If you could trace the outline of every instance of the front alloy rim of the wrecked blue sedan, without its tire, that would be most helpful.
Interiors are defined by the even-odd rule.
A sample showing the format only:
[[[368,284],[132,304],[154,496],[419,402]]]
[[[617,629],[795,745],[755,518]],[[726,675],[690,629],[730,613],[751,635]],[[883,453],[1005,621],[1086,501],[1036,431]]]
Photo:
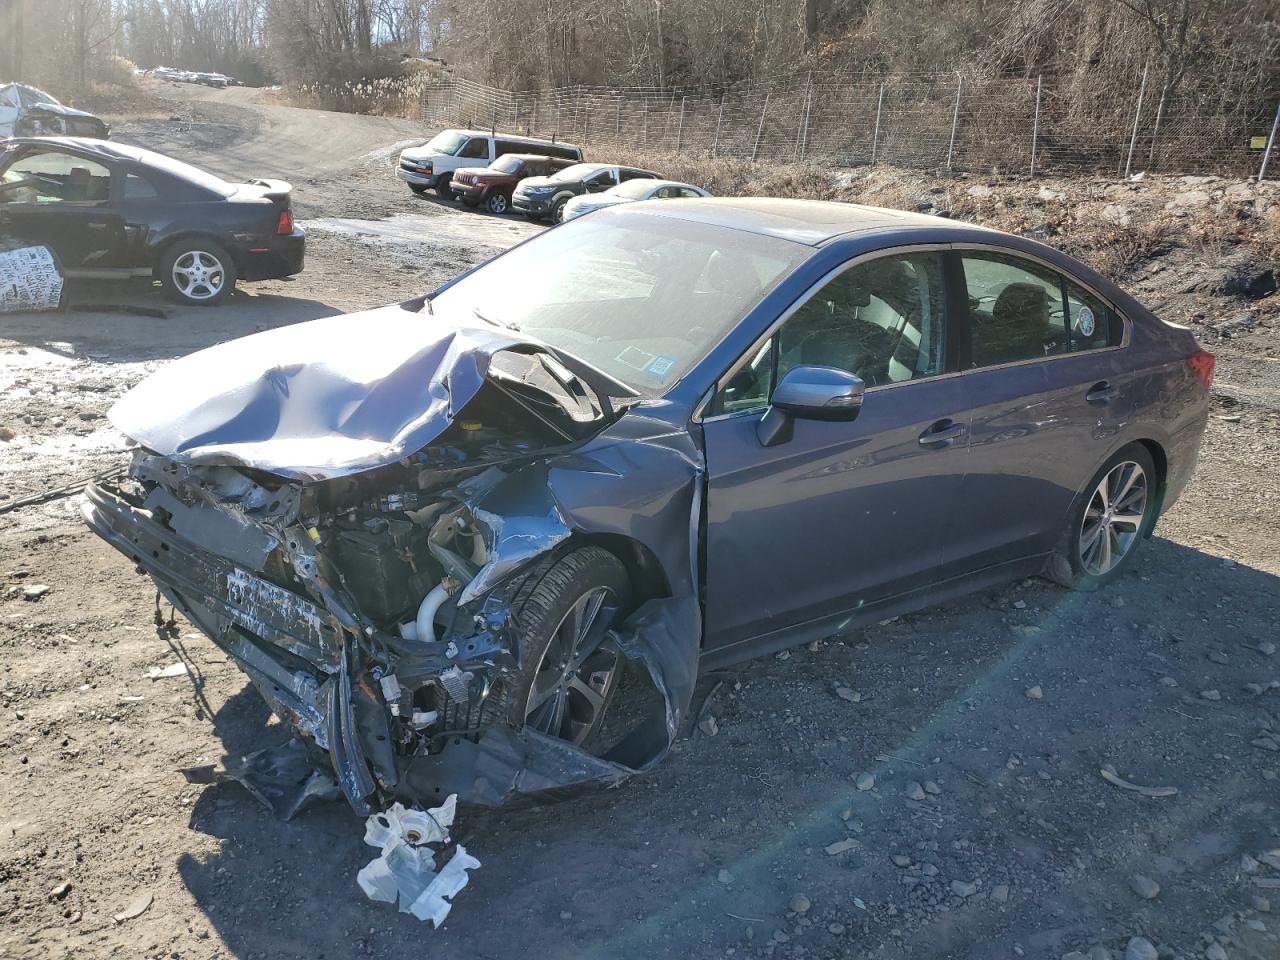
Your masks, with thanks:
[[[617,681],[620,653],[605,640],[613,590],[599,586],[570,607],[534,673],[525,723],[581,744],[599,726]]]

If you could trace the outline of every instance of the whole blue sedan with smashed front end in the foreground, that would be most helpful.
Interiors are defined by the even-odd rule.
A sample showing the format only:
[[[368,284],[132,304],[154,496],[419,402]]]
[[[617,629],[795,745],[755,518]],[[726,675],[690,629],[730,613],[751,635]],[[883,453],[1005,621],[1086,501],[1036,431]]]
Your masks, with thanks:
[[[1115,579],[1212,372],[1029,239],[635,204],[163,367],[84,516],[296,728],[239,768],[285,814],[317,777],[362,814],[549,799],[657,763],[708,667]]]

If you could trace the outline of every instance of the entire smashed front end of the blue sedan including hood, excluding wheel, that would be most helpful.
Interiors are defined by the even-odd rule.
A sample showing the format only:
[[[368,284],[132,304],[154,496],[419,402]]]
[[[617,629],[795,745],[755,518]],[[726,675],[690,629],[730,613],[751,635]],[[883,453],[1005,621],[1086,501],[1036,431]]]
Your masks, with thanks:
[[[90,526],[300,736],[228,776],[291,815],[324,794],[326,763],[369,814],[547,799],[659,760],[701,632],[687,430],[506,332],[401,307],[337,320],[165,367],[113,411],[140,444],[128,475],[88,489]],[[376,349],[352,351],[352,329]],[[527,672],[517,595],[582,544],[636,581],[634,609],[590,643],[658,694],[599,755],[512,707]]]

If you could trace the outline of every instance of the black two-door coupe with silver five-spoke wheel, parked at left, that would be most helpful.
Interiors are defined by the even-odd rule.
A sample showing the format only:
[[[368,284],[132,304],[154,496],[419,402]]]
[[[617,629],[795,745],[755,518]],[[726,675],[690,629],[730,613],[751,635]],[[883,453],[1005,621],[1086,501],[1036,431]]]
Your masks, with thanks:
[[[152,278],[180,303],[220,303],[237,280],[302,270],[291,192],[113,141],[0,142],[0,236],[47,246],[69,279]]]

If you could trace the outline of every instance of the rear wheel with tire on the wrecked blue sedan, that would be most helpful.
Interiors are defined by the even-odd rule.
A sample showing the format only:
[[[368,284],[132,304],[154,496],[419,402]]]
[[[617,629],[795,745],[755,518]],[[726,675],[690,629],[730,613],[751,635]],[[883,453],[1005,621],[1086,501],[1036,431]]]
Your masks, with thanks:
[[[1155,461],[1140,443],[1129,444],[1076,497],[1050,577],[1083,591],[1111,582],[1133,562],[1158,508]]]

